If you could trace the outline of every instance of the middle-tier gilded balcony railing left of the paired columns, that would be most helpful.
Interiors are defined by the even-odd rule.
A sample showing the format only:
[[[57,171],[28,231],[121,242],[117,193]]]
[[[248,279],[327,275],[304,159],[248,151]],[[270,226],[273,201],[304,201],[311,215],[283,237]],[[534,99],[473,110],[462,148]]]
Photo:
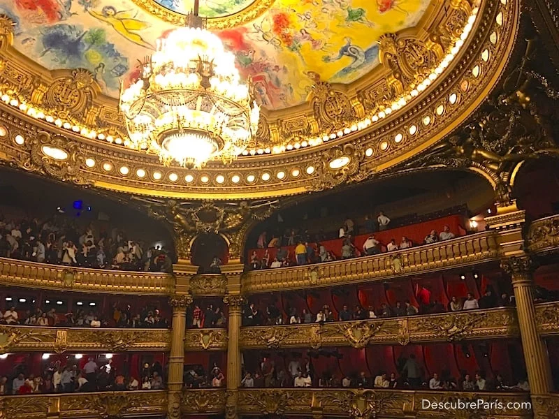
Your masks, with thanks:
[[[169,351],[170,330],[0,325],[0,352]]]

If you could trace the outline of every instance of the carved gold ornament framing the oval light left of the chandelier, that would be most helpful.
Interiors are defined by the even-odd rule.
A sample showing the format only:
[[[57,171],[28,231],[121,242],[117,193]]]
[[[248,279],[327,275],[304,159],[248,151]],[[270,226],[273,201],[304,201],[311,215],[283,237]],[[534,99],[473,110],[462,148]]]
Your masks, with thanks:
[[[60,149],[66,153],[66,159],[53,159],[43,152],[44,147]],[[82,168],[85,165],[85,156],[77,142],[69,142],[60,135],[52,136],[41,131],[36,138],[29,140],[29,154],[21,154],[10,164],[29,172],[50,175],[64,182],[73,182],[78,185],[89,185],[91,182],[82,177]]]

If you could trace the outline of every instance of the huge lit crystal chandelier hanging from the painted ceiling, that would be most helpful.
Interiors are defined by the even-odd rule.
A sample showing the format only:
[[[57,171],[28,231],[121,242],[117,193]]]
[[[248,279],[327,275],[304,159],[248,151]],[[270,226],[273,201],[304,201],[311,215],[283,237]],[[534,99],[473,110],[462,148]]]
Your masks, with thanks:
[[[198,16],[157,40],[140,78],[120,95],[133,147],[154,152],[165,165],[200,168],[212,159],[230,163],[258,127],[260,109],[235,57]]]

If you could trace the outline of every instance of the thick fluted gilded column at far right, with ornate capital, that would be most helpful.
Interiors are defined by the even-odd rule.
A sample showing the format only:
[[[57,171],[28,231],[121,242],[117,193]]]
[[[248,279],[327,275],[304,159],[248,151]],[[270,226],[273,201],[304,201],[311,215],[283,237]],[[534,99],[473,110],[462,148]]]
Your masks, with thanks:
[[[526,256],[513,256],[504,259],[501,267],[511,276],[514,288],[530,392],[532,395],[546,395],[553,388],[553,381],[546,343],[537,332],[532,260]]]

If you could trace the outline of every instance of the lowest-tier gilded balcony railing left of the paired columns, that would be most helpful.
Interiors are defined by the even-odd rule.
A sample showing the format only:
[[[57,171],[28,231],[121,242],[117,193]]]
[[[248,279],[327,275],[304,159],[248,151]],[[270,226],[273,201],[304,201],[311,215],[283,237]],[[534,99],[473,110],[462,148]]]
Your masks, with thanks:
[[[83,392],[67,395],[3,396],[6,419],[157,418],[167,411],[167,392]]]

